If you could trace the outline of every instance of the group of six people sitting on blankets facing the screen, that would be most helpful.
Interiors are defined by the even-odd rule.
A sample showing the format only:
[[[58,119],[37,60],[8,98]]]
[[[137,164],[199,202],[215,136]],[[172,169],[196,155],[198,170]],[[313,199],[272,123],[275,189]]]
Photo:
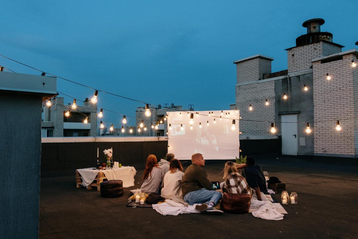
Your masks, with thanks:
[[[202,168],[205,160],[202,154],[192,155],[192,164],[183,173],[183,166],[174,154],[166,154],[166,160],[159,164],[151,154],[147,158],[144,170],[144,183],[141,192],[158,193],[165,199],[184,201],[189,205],[198,204],[195,209],[204,214],[221,215],[223,211],[215,209],[222,198],[222,193],[212,190],[212,183]],[[245,177],[238,173],[245,171]],[[266,180],[260,166],[255,164],[252,157],[247,157],[246,164],[226,162],[224,167],[224,182],[221,183],[223,193],[245,193],[257,200],[262,200],[267,192]]]

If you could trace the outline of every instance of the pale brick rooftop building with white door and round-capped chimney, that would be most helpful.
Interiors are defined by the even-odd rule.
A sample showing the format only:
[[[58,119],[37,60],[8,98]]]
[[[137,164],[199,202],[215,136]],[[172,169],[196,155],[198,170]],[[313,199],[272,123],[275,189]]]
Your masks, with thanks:
[[[282,154],[357,157],[358,66],[353,62],[358,64],[358,52],[342,52],[332,33],[320,31],[323,24],[320,18],[303,23],[307,34],[286,49],[287,70],[271,73],[274,59],[261,54],[234,61],[236,102],[230,109],[240,110],[241,140],[256,146],[259,141],[253,140],[261,140]]]

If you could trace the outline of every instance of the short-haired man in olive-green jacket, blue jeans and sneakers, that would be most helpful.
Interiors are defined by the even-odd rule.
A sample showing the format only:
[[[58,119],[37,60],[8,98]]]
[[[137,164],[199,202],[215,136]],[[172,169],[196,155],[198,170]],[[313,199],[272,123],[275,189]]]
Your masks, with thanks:
[[[222,194],[211,191],[212,183],[208,180],[208,175],[202,168],[205,160],[202,154],[192,155],[192,165],[185,170],[182,181],[182,193],[184,201],[190,205],[196,205],[195,209],[205,214],[222,215],[223,211],[217,210],[214,206],[220,201]]]

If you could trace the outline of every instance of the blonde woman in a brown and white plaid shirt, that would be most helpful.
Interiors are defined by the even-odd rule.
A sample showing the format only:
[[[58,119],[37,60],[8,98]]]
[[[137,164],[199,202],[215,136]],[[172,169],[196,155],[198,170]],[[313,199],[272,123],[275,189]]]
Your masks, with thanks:
[[[246,193],[252,196],[251,188],[247,185],[244,177],[237,173],[236,165],[233,162],[226,162],[224,167],[223,192]]]

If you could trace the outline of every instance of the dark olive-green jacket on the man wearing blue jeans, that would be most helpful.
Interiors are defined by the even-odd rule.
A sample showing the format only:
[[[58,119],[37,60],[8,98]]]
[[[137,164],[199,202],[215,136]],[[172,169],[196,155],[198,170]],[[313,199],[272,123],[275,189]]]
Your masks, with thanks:
[[[197,191],[202,188],[211,190],[211,182],[208,180],[208,174],[198,164],[193,163],[185,170],[182,180],[183,197],[189,192]]]

